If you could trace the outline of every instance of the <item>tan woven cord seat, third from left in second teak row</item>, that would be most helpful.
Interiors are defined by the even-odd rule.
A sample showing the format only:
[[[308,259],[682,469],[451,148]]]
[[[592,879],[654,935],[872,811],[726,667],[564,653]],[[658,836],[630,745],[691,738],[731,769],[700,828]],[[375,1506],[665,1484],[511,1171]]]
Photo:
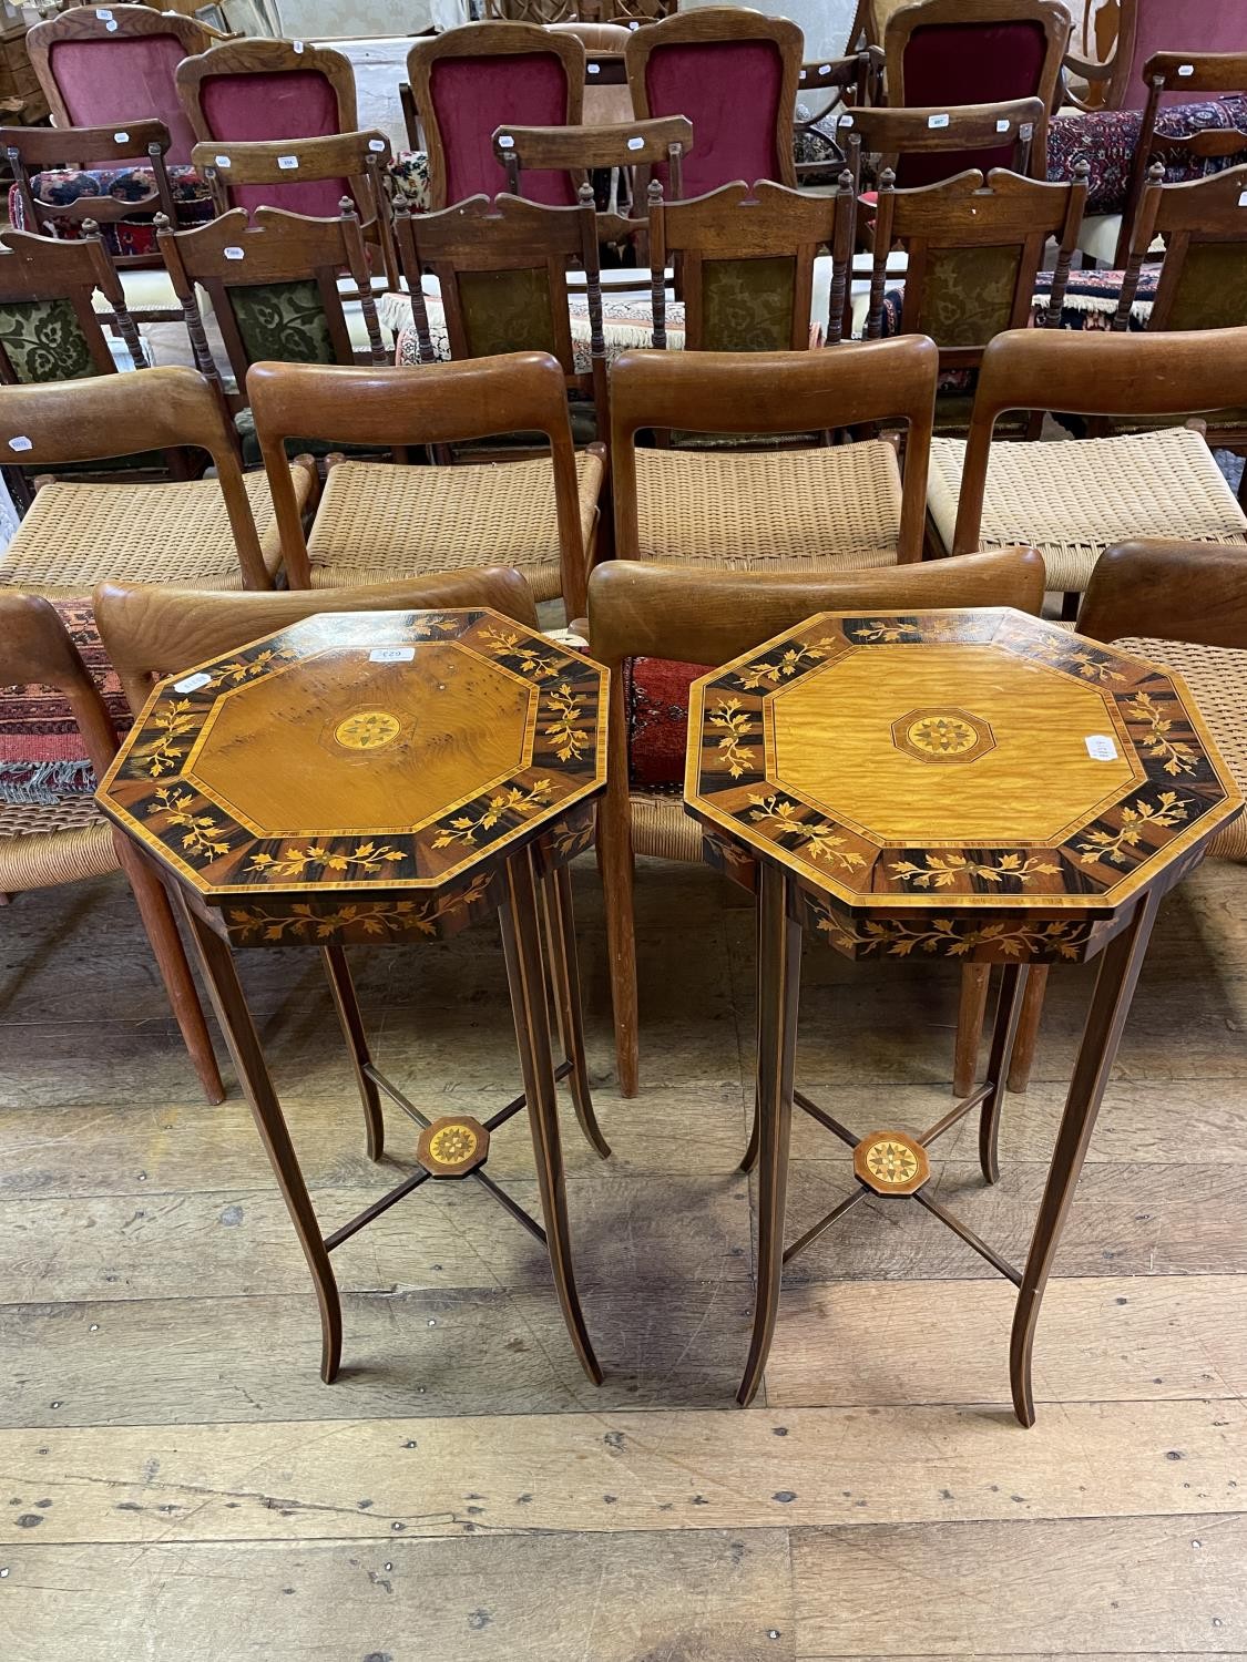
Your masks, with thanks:
[[[900,529],[901,472],[883,440],[637,450],[642,560],[738,572],[868,570],[896,563]]]

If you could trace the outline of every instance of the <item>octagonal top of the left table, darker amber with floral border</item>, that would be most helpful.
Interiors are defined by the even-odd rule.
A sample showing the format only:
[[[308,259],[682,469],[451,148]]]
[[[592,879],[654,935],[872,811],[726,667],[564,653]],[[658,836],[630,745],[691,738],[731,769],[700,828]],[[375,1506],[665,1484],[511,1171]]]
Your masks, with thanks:
[[[98,801],[208,906],[462,889],[602,791],[607,680],[489,610],[321,613],[161,681]]]

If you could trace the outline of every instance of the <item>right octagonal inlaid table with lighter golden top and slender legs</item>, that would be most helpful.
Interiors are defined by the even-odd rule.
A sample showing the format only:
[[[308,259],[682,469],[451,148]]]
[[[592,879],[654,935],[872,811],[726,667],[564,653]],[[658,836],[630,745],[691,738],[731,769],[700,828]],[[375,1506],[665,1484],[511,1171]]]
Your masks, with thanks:
[[[1034,1423],[1039,1305],[1156,909],[1242,809],[1179,676],[1013,610],[826,613],[693,683],[685,806],[758,889],[758,1388],[783,1263],[866,1195],[911,1197],[1018,1288],[1009,1371]],[[986,1084],[921,1135],[858,1135],[793,1090],[801,934],[846,957],[1004,966]],[[1099,974],[1024,1268],[928,1188],[929,1145],[1001,1095],[1029,964]],[[853,1147],[855,1190],[783,1248],[791,1109]]]

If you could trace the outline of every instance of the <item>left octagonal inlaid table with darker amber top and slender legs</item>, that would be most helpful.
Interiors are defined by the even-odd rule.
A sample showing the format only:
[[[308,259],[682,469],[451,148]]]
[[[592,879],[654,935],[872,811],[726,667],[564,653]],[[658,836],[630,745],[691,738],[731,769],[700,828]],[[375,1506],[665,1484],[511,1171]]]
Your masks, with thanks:
[[[589,1095],[567,874],[605,788],[605,670],[494,612],[319,615],[161,681],[100,786],[103,811],[185,906],[316,1285],[326,1381],[343,1348],[329,1253],[424,1182],[456,1178],[482,1183],[547,1246],[572,1343],[600,1379],[572,1271],[555,1080],[570,1079],[577,1119],[609,1155]],[[431,1120],[374,1065],[344,947],[439,941],[494,912],[524,1094],[484,1124]],[[412,1173],[331,1235],[233,959],[293,944],[324,956],[369,1155],[382,1153],[382,1095],[421,1125]],[[484,1170],[490,1137],[524,1107],[544,1227]]]

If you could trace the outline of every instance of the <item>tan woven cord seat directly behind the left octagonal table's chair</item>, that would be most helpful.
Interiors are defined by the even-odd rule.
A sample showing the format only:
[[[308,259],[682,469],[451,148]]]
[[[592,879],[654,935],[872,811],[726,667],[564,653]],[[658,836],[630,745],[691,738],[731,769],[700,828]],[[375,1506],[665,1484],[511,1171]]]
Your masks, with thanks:
[[[602,459],[575,457],[589,550]],[[313,588],[357,588],[399,575],[514,565],[534,600],[560,592],[554,472],[545,457],[464,467],[339,462],[308,535]]]

